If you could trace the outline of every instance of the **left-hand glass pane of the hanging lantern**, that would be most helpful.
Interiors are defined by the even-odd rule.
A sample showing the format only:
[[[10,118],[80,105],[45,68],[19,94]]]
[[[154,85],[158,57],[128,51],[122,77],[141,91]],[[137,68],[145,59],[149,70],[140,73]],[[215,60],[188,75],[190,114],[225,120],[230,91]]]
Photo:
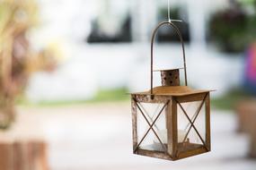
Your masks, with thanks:
[[[163,152],[163,146],[167,146],[166,107],[163,108],[162,103],[139,103],[138,106],[143,111],[142,114],[137,108],[137,142],[142,140],[139,149]]]

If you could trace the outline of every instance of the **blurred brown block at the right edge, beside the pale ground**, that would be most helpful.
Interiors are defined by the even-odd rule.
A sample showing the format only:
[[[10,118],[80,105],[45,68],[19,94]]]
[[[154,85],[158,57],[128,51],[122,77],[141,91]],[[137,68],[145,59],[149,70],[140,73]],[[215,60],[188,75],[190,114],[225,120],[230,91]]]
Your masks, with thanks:
[[[237,106],[238,132],[246,132],[250,135],[250,157],[256,157],[256,100],[248,100]]]

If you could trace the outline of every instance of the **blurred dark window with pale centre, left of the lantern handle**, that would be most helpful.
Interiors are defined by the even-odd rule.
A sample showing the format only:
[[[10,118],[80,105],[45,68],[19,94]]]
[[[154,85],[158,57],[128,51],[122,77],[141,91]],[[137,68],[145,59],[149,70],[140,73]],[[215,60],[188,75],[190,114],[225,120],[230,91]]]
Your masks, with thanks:
[[[127,0],[100,0],[99,13],[92,21],[89,43],[131,42],[131,17]]]

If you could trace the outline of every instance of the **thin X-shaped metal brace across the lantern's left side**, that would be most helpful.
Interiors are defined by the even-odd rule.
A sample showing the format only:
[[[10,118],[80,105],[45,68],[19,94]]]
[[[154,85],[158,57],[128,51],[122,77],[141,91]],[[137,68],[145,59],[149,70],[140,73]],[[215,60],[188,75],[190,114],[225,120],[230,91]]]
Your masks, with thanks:
[[[156,136],[157,140],[159,140],[159,142],[161,143],[161,146],[162,146],[164,152],[167,153],[166,147],[163,145],[162,140],[159,138],[159,136],[157,135],[157,133],[154,131],[153,126],[154,126],[154,123],[157,121],[157,119],[160,117],[160,115],[163,113],[163,109],[165,108],[165,106],[167,106],[167,105],[169,104],[170,100],[168,100],[168,101],[165,103],[165,105],[163,106],[163,108],[160,110],[159,114],[155,117],[153,123],[150,123],[150,122],[148,121],[148,119],[146,118],[146,115],[143,113],[141,107],[137,104],[137,99],[136,99],[136,98],[133,98],[133,100],[135,101],[135,103],[136,103],[136,105],[137,105],[137,107],[138,107],[138,109],[139,109],[141,115],[143,115],[143,117],[145,118],[146,123],[149,125],[149,129],[146,131],[146,133],[145,133],[145,135],[143,136],[143,138],[138,142],[136,149],[134,149],[134,152],[137,151],[137,149],[139,148],[140,144],[143,142],[143,140],[145,140],[146,135],[148,134],[148,132],[150,132],[150,130],[152,130],[152,131],[154,132],[154,135]]]

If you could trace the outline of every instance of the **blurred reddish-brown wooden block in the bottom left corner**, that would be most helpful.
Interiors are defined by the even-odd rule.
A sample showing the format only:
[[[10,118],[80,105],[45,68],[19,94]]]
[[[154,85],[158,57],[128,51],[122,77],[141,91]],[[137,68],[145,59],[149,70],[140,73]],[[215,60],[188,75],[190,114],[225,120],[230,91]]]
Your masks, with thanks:
[[[48,170],[42,141],[0,141],[0,170]]]

